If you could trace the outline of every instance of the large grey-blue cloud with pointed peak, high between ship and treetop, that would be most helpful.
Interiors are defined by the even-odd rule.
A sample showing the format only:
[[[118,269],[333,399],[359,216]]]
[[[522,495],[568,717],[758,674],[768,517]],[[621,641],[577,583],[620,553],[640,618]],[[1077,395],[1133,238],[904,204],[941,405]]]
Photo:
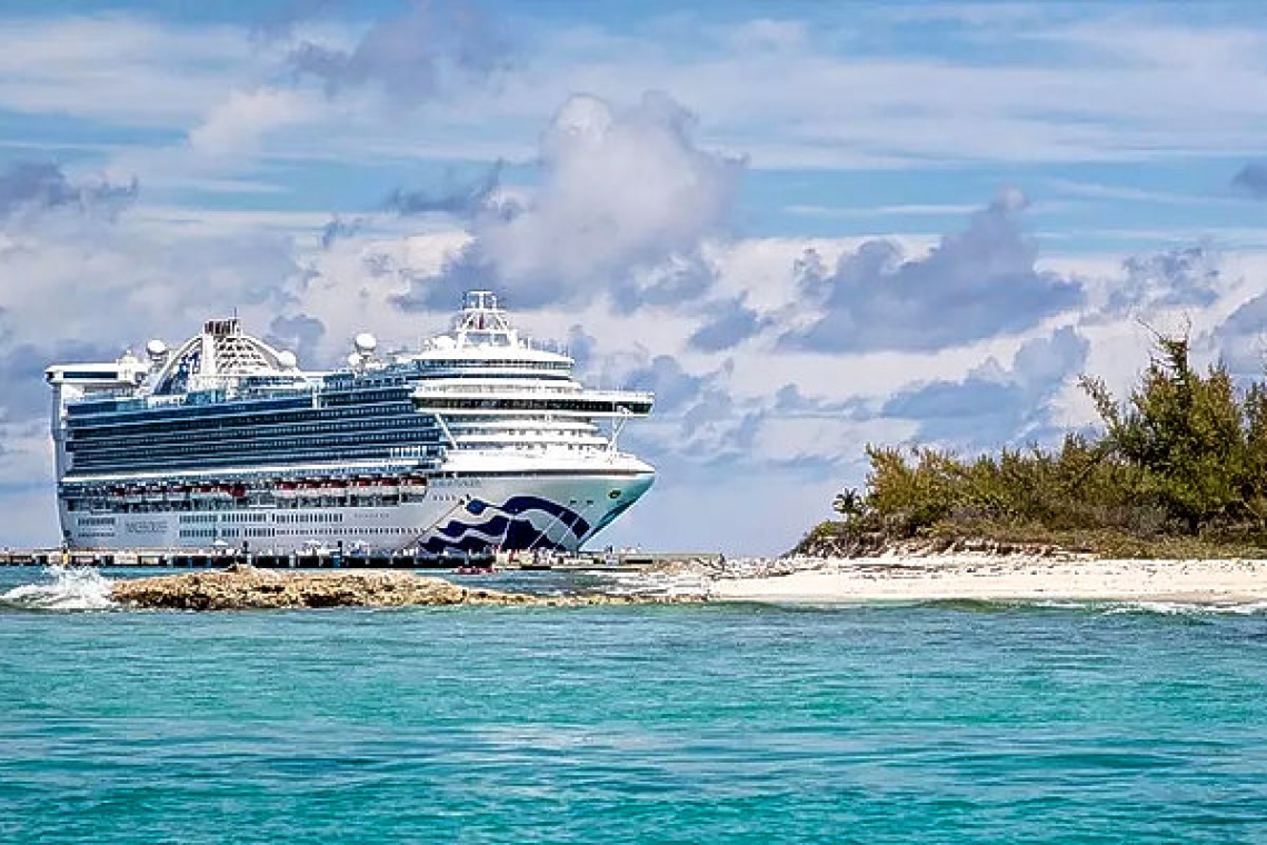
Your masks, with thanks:
[[[934,351],[1030,328],[1078,307],[1081,285],[1036,269],[1038,245],[1021,228],[1025,198],[1006,191],[968,228],[906,258],[874,239],[827,271],[816,253],[799,265],[801,293],[822,314],[788,331],[784,348],[817,352]]]

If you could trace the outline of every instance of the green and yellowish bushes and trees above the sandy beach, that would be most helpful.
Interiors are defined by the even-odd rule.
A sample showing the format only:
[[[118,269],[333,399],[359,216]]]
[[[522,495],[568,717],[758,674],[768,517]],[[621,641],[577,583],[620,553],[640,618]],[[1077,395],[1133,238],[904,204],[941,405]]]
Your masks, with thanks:
[[[1106,556],[1226,556],[1267,550],[1267,384],[1238,389],[1221,364],[1188,361],[1188,340],[1157,336],[1125,402],[1082,376],[1104,423],[1055,448],[960,459],[869,446],[863,490],[802,552],[865,554],[893,541],[976,538]]]

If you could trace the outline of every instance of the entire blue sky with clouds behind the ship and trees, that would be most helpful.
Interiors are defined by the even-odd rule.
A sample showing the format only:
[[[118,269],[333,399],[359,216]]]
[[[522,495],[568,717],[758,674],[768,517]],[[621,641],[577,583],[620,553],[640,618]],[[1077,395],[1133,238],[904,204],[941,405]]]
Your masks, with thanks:
[[[209,317],[334,366],[498,291],[656,393],[601,542],[778,554],[865,446],[1095,424],[1152,332],[1267,342],[1267,6],[9,0],[0,521],[56,543],[51,362]]]

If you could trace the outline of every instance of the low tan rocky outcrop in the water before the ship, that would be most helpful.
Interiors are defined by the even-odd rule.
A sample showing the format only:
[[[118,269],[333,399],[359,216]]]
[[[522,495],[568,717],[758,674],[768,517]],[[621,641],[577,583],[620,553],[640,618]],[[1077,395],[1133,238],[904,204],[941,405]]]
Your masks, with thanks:
[[[114,581],[118,604],[177,611],[443,604],[668,604],[703,595],[532,595],[462,587],[402,571],[274,571],[233,565],[214,571]]]

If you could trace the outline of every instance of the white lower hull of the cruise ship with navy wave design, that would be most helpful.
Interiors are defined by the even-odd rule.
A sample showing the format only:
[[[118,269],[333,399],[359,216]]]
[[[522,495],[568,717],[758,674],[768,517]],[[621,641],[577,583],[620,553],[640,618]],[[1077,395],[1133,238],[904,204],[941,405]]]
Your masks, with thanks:
[[[642,465],[645,466],[645,465]],[[650,467],[647,467],[650,470]],[[430,481],[418,502],[394,505],[242,507],[214,511],[61,514],[73,549],[314,549],[418,554],[498,547],[582,547],[651,486],[654,473],[469,475]]]

